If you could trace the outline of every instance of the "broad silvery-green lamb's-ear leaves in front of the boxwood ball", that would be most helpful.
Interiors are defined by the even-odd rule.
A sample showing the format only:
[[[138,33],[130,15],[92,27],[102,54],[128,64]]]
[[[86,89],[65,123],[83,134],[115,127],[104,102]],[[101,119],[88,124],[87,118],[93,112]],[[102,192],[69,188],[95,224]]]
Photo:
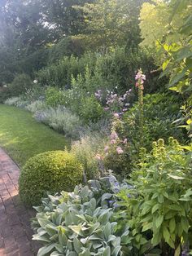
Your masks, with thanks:
[[[116,232],[112,221],[115,183],[113,176],[106,177],[44,199],[33,219],[33,239],[45,245],[37,255],[122,255],[120,243],[129,230]]]

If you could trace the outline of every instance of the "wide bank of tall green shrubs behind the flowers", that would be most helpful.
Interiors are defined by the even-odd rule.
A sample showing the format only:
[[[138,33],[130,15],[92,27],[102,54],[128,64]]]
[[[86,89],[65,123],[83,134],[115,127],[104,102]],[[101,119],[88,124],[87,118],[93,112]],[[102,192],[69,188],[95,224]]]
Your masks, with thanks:
[[[89,88],[115,90],[118,86],[119,92],[125,92],[133,88],[135,72],[142,67],[146,73],[146,92],[162,90],[164,80],[158,80],[159,74],[152,73],[155,69],[153,57],[148,51],[116,48],[115,51],[105,54],[86,53],[80,58],[64,57],[58,64],[52,64],[41,69],[37,73],[37,79],[41,85],[70,86],[72,75],[77,77],[81,73],[86,76],[89,68]],[[86,86],[86,89],[88,89]]]

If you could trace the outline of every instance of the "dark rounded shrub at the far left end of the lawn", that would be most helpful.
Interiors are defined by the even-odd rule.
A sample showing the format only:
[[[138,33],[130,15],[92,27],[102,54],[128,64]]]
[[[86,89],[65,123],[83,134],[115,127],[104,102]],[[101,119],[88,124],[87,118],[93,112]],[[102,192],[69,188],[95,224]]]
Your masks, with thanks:
[[[17,75],[11,85],[9,90],[11,90],[11,96],[23,95],[28,89],[32,88],[33,82],[31,78],[26,74]]]

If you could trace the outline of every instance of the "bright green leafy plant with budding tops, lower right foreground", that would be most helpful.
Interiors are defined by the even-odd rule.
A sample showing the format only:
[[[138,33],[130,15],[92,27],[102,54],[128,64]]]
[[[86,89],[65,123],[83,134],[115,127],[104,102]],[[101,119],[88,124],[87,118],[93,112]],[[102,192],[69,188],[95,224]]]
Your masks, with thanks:
[[[181,247],[191,246],[191,150],[192,145],[182,147],[172,137],[168,146],[159,139],[151,153],[141,150],[129,180],[132,187],[119,195],[125,207],[120,218],[130,227],[129,255],[147,254],[151,248],[180,255]]]

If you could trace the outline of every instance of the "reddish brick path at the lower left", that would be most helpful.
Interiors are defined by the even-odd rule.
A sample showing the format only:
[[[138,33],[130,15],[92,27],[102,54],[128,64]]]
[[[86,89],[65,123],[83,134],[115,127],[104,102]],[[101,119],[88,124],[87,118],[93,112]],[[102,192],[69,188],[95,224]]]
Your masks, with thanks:
[[[37,255],[32,241],[30,218],[33,210],[25,209],[18,195],[20,170],[0,148],[0,256]]]

